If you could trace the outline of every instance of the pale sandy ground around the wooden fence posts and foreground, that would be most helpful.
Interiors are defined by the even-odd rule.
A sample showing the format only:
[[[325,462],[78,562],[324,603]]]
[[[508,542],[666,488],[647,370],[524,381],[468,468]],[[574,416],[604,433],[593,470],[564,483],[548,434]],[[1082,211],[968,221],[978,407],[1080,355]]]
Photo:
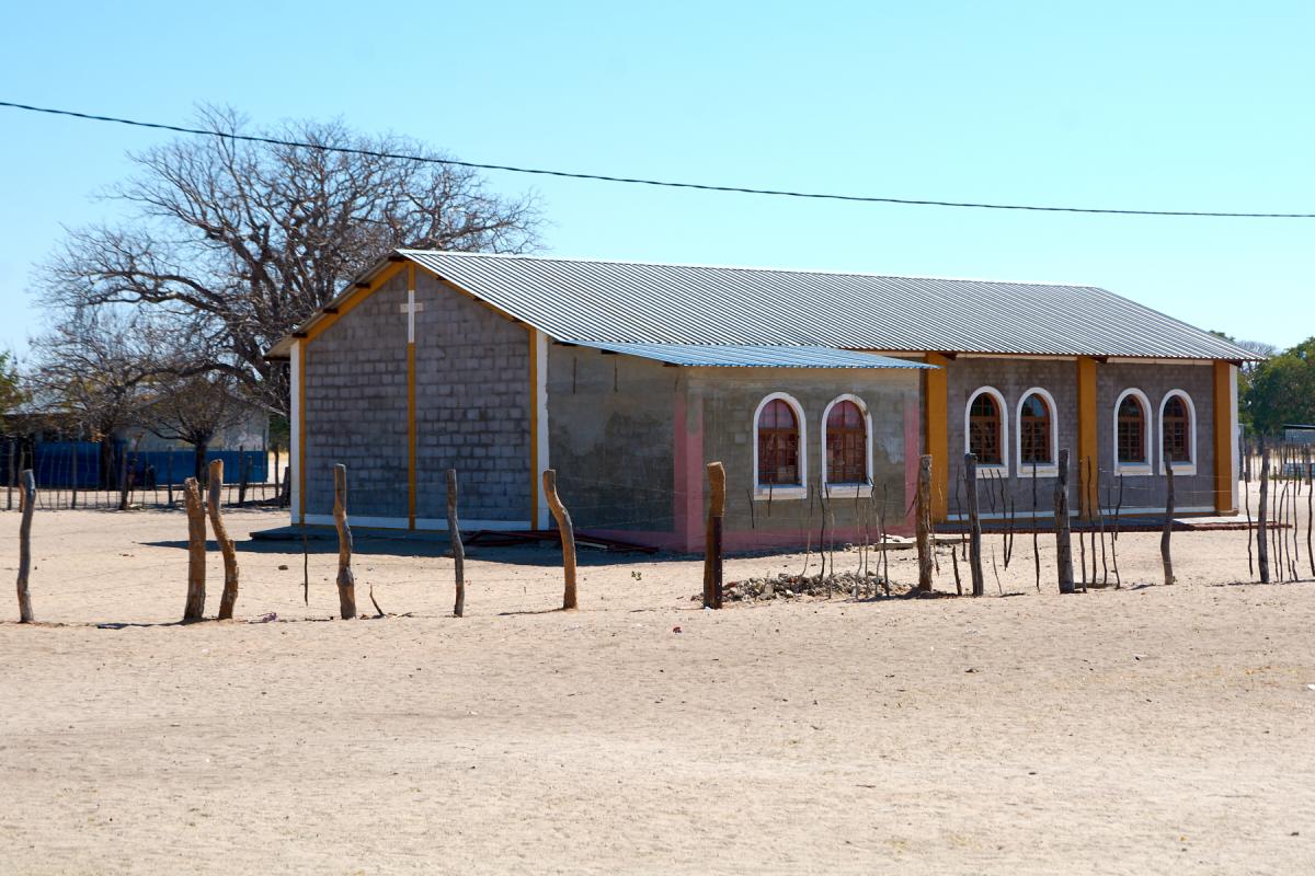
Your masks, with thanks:
[[[1315,872],[1315,586],[1247,583],[1244,532],[1177,535],[1173,587],[1126,535],[1123,590],[1038,594],[1019,537],[986,599],[722,612],[697,559],[585,553],[563,613],[552,550],[473,550],[462,620],[438,546],[376,542],[351,623],[330,544],[305,607],[300,545],[245,542],[239,621],[179,626],[184,533],[38,517],[0,872]]]

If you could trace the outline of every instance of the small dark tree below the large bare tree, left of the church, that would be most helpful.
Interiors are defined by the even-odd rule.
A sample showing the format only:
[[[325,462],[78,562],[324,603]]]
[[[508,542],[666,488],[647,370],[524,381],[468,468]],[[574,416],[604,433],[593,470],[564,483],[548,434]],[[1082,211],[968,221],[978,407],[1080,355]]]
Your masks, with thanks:
[[[146,387],[142,426],[168,441],[192,447],[192,475],[205,482],[205,449],[224,429],[242,423],[250,406],[225,373],[163,376]]]

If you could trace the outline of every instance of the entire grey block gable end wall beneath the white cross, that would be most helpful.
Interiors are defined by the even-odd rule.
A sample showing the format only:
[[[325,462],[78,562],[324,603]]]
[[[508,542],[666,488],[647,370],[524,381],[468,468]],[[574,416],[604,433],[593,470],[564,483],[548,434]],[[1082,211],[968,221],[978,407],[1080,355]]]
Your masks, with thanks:
[[[468,520],[531,519],[530,340],[525,326],[417,271],[417,517],[443,519],[447,469]],[[306,512],[333,510],[347,465],[354,516],[409,514],[406,272],[306,347]]]

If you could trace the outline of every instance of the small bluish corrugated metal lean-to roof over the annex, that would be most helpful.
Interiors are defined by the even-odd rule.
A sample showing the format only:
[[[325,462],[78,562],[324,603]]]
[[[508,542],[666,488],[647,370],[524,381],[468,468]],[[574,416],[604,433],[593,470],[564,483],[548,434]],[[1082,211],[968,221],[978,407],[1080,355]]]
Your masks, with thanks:
[[[931,368],[892,356],[856,353],[831,347],[780,347],[771,344],[611,344],[606,341],[572,341],[609,353],[652,359],[671,365],[707,365],[717,368]]]

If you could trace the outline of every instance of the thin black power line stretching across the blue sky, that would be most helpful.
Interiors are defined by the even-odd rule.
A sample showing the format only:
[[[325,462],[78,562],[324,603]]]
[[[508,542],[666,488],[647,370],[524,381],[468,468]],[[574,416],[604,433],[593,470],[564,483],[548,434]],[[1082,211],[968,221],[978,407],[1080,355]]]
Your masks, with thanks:
[[[705,183],[673,183],[671,180],[644,180],[631,176],[606,176],[604,173],[575,173],[571,171],[551,171],[537,167],[515,167],[512,164],[484,164],[480,162],[459,162],[450,158],[433,158],[427,155],[408,155],[401,152],[383,152],[367,148],[351,148],[347,146],[323,146],[320,143],[302,143],[300,141],[285,141],[277,137],[260,137],[255,134],[235,134],[229,131],[212,131],[201,127],[184,127],[181,125],[166,125],[163,122],[142,122],[133,118],[118,118],[116,116],[97,116],[93,113],[78,113],[71,109],[54,109],[50,106],[32,106],[29,104],[16,104],[0,100],[0,106],[21,109],[29,113],[46,113],[49,116],[66,116],[92,122],[113,122],[116,125],[129,125],[132,127],[150,127],[178,134],[196,134],[200,137],[217,137],[227,141],[246,143],[266,143],[270,146],[288,146],[293,148],[312,148],[323,152],[342,152],[346,155],[363,155],[368,158],[387,158],[406,162],[421,162],[425,164],[446,164],[450,167],[468,167],[479,171],[505,171],[508,173],[533,173],[537,176],[558,176],[569,180],[594,180],[598,183],[627,183],[631,185],[654,185],[668,189],[696,189],[700,192],[731,192],[736,194],[769,194],[788,198],[810,198],[821,201],[856,201],[860,204],[897,204],[903,206],[948,206],[968,208],[976,210],[1030,210],[1035,213],[1095,213],[1105,215],[1185,215],[1185,217],[1214,217],[1227,219],[1315,219],[1315,213],[1227,213],[1219,210],[1116,210],[1105,208],[1077,208],[1077,206],[1040,206],[1035,204],[989,204],[977,201],[932,201],[924,198],[886,198],[865,194],[835,194],[827,192],[792,192],[788,189],[755,189],[738,185],[710,185]]]

